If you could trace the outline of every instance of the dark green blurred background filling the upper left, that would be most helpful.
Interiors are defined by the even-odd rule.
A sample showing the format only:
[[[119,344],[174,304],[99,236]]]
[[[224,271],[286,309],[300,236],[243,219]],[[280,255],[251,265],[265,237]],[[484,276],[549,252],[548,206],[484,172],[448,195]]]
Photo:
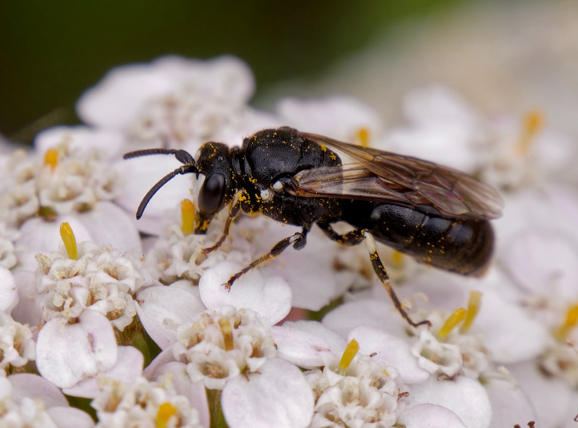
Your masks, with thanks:
[[[76,99],[115,65],[235,54],[253,69],[258,95],[314,79],[392,25],[465,2],[3,1],[0,133],[29,143],[43,128],[76,123]]]

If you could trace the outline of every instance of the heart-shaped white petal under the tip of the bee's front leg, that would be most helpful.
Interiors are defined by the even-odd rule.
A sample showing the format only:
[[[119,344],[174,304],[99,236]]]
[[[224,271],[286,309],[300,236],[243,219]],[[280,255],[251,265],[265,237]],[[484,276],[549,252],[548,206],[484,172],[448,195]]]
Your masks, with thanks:
[[[217,309],[231,305],[236,309],[249,308],[271,324],[276,324],[291,310],[291,289],[279,277],[263,278],[258,270],[251,270],[235,281],[231,290],[223,284],[243,266],[224,261],[209,268],[201,276],[199,292],[205,306]]]

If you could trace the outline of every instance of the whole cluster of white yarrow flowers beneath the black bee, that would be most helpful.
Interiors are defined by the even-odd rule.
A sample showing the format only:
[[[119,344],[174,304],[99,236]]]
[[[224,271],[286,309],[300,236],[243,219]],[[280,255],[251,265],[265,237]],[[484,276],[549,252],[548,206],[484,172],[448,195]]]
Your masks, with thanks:
[[[120,67],[79,100],[88,126],[45,130],[29,152],[3,150],[0,425],[571,426],[578,193],[558,166],[576,163],[570,138],[539,110],[486,117],[442,86],[407,94],[405,123],[389,127],[353,97],[283,98],[264,111],[249,105],[253,91],[232,57]],[[429,321],[411,327],[365,245],[313,227],[305,248],[274,257],[296,231],[264,216],[228,219],[227,209],[205,230],[194,174],[175,174],[134,219],[182,164],[124,153],[194,154],[281,126],[497,187],[506,211],[492,222],[487,275],[378,248],[410,318]]]

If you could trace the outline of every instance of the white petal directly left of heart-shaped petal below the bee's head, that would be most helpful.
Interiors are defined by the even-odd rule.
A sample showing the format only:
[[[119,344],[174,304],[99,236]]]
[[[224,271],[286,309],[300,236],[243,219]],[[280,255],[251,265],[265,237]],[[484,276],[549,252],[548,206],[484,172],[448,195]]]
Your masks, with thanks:
[[[197,296],[173,286],[146,287],[137,300],[140,322],[161,349],[176,342],[177,326],[192,321],[206,309]]]

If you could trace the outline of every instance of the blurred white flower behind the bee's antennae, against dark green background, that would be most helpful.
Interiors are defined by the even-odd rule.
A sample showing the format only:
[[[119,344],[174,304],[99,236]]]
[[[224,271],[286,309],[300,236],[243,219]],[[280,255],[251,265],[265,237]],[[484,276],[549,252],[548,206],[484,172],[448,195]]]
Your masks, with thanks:
[[[109,72],[77,110],[87,123],[122,130],[135,141],[198,146],[250,122],[254,113],[246,104],[253,91],[251,71],[236,58],[164,57]]]

